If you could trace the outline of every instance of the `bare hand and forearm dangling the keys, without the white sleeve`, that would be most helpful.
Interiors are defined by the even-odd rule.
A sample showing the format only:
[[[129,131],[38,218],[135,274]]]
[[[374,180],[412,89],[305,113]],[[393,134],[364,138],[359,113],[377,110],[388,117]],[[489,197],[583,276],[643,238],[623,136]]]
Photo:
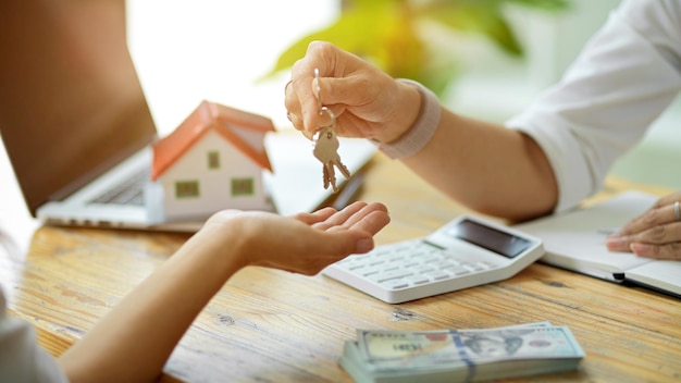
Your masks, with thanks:
[[[320,71],[322,102],[334,111],[338,134],[373,139],[380,148],[409,134],[422,116],[424,102],[433,102],[412,84],[394,79],[329,42],[315,41],[294,65],[286,86],[289,120],[308,137],[320,119],[314,69]],[[401,158],[406,165],[450,198],[483,213],[518,221],[552,211],[558,198],[556,181],[534,140],[499,124],[437,108],[432,138],[414,155]]]

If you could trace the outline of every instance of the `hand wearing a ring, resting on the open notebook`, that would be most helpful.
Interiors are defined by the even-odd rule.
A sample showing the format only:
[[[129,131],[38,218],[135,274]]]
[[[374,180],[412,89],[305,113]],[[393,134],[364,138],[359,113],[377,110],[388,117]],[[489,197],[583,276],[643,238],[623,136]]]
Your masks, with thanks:
[[[640,257],[681,260],[681,192],[660,198],[642,215],[608,236],[612,251],[631,251]]]

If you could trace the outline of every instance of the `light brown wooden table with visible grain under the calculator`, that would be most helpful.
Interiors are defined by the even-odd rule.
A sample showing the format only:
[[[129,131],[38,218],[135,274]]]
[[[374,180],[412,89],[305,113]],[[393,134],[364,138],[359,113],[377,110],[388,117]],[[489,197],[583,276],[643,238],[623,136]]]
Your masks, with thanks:
[[[599,198],[632,186],[609,180]],[[392,211],[393,222],[376,236],[379,244],[425,235],[465,211],[398,162],[380,156],[366,171],[360,198],[382,201]],[[32,322],[40,343],[55,356],[188,237],[36,226],[25,217],[20,221],[28,222],[20,230],[27,234],[27,252],[0,259],[0,279],[10,311]],[[21,234],[16,243],[21,248]],[[541,263],[504,282],[401,305],[384,304],[321,275],[248,268],[199,316],[162,380],[351,382],[337,361],[356,329],[469,329],[535,321],[569,326],[586,357],[577,371],[513,382],[681,380],[681,301]]]

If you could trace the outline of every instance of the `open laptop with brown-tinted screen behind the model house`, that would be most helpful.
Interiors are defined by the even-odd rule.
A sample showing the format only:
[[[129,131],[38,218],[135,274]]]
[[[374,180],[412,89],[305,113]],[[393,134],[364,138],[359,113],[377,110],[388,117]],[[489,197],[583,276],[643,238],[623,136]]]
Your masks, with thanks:
[[[48,224],[198,230],[205,218],[152,222],[144,203],[158,135],[127,49],[124,2],[74,7],[0,7],[8,58],[0,60],[0,136],[30,214]],[[326,200],[321,164],[309,178],[297,176],[307,172],[297,171],[301,163],[317,161],[311,147],[276,149],[311,145],[302,135],[275,134],[267,145],[275,170],[267,185],[278,212],[312,211]],[[352,172],[375,150],[366,140],[342,147]]]

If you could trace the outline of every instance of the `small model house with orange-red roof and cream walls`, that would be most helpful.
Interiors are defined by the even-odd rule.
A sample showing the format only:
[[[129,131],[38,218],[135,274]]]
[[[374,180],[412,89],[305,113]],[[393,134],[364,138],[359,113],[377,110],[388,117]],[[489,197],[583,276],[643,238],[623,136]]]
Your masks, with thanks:
[[[206,219],[223,209],[274,211],[263,185],[272,172],[270,119],[202,101],[153,145],[147,202],[157,222]]]

